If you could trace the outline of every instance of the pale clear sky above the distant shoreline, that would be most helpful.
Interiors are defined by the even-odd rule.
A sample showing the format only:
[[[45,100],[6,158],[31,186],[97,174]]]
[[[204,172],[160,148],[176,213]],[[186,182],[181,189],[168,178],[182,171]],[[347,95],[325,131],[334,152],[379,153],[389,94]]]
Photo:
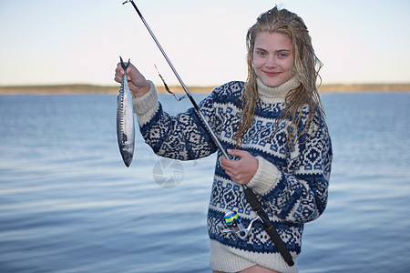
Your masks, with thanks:
[[[119,56],[178,84],[125,0],[0,0],[0,86],[114,86]],[[245,35],[274,5],[300,15],[323,84],[410,83],[408,0],[135,0],[187,86],[245,80]]]

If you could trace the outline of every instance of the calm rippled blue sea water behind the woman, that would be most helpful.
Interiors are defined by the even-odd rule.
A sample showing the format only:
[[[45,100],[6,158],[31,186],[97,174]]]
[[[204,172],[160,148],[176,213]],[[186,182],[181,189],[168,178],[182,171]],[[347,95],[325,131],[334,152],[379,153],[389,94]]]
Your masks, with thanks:
[[[300,272],[410,272],[410,93],[322,99],[333,171]],[[0,272],[210,272],[215,156],[164,161],[137,134],[127,168],[116,107],[109,95],[0,96]]]

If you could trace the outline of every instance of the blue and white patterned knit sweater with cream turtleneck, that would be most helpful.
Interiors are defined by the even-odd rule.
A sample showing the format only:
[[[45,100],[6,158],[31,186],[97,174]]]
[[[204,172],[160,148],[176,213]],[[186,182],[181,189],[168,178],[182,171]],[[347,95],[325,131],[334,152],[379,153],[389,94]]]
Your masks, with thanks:
[[[256,214],[243,195],[242,187],[234,183],[220,167],[218,158],[213,179],[208,212],[210,236],[210,266],[223,272],[237,272],[254,265],[280,272],[297,272],[296,258],[301,252],[303,224],[319,217],[327,203],[331,172],[332,144],[320,111],[316,111],[308,134],[295,147],[288,145],[289,122],[282,122],[275,132],[275,119],[284,107],[284,98],[300,83],[293,77],[282,86],[264,86],[258,80],[259,101],[251,127],[243,136],[241,149],[258,159],[259,167],[247,185],[258,194],[261,206],[268,213],[283,242],[291,251],[295,265],[289,267],[261,222],[256,221],[245,241],[234,234],[221,234],[226,228],[224,215],[236,211],[244,227]],[[134,99],[134,111],[142,135],[153,151],[162,157],[191,160],[217,152],[210,134],[195,109],[178,116],[162,110],[154,85],[145,96]],[[200,103],[223,147],[235,147],[235,132],[241,117],[243,82],[230,82],[217,87]],[[306,125],[308,108],[302,109]]]

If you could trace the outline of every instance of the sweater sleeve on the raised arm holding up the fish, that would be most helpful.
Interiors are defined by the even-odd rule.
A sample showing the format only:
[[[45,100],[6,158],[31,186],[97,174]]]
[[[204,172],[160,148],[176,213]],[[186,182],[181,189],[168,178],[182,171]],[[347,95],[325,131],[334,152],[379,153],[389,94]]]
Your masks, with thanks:
[[[152,83],[150,86],[146,95],[134,99],[134,111],[141,134],[152,150],[161,157],[179,160],[198,159],[214,153],[217,147],[195,108],[170,116],[159,103],[155,86]],[[213,125],[212,95],[200,103],[200,111]]]

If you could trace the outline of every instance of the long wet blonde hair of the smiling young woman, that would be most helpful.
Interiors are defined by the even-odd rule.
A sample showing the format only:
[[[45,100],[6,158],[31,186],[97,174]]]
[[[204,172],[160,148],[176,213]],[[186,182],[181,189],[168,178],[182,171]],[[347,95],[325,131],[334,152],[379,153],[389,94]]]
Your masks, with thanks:
[[[289,144],[294,147],[297,140],[312,124],[315,110],[319,109],[324,114],[316,86],[317,78],[321,79],[319,70],[323,64],[314,54],[311,36],[302,18],[286,9],[279,9],[277,6],[261,14],[256,24],[251,26],[246,35],[248,78],[244,86],[241,121],[236,135],[236,145],[237,147],[241,146],[243,135],[251,127],[258,102],[253,50],[256,36],[261,32],[288,35],[292,41],[292,76],[296,76],[301,85],[291,90],[285,97],[285,108],[276,122],[274,134],[278,129],[278,125],[284,120],[291,120],[293,125],[298,125],[301,121],[301,115],[298,115],[298,112],[302,110],[302,106],[309,106],[307,124],[302,131],[291,132],[292,126],[288,126]]]

